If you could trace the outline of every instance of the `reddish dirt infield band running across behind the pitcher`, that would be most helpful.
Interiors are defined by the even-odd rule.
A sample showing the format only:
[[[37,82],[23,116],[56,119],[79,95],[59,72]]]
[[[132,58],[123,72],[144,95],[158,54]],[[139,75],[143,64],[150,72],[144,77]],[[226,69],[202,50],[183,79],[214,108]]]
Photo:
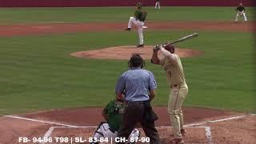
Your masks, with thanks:
[[[146,22],[147,30],[209,30],[252,32],[256,22]],[[98,23],[47,23],[47,24],[17,24],[1,25],[0,37],[66,34],[94,31],[120,31],[127,26],[126,22]]]

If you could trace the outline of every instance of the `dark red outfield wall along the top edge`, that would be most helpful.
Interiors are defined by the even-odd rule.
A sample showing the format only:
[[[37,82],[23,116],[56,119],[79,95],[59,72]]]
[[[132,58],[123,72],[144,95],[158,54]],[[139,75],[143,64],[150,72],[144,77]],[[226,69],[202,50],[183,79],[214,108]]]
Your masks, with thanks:
[[[134,6],[142,2],[154,6],[155,0],[0,0],[0,7],[98,7]],[[161,6],[256,6],[256,0],[161,0]]]

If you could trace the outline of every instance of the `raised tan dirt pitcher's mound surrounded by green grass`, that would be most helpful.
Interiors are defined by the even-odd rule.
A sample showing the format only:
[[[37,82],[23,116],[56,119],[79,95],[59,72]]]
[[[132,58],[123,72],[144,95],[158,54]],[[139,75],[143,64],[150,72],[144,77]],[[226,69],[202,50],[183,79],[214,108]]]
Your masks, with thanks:
[[[137,53],[144,59],[150,59],[152,56],[153,46],[144,46],[137,48],[136,46],[116,46],[101,50],[78,51],[70,55],[78,58],[95,58],[95,59],[130,59],[131,54]],[[191,49],[175,49],[181,58],[194,57],[204,54],[202,51]]]

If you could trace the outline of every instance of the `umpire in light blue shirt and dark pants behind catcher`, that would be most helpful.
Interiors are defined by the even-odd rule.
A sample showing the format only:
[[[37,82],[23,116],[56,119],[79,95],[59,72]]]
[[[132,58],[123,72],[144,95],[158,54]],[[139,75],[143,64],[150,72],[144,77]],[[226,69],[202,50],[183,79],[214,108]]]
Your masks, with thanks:
[[[154,74],[149,70],[142,70],[143,66],[144,61],[141,56],[133,54],[129,61],[130,70],[127,70],[118,78],[115,88],[117,98],[124,99],[128,104],[125,114],[122,116],[118,138],[128,140],[130,133],[140,122],[146,136],[150,138],[150,143],[158,144],[159,134],[154,125],[158,116],[150,106],[157,85]]]

